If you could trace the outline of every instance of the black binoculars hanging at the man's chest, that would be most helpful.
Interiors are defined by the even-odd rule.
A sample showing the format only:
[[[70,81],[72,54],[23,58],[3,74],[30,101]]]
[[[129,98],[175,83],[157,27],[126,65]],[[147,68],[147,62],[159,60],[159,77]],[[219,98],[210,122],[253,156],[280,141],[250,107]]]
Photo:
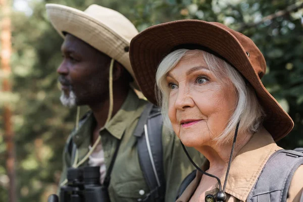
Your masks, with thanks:
[[[67,185],[60,188],[57,195],[48,197],[48,202],[110,202],[108,187],[100,184],[100,167],[69,168]]]

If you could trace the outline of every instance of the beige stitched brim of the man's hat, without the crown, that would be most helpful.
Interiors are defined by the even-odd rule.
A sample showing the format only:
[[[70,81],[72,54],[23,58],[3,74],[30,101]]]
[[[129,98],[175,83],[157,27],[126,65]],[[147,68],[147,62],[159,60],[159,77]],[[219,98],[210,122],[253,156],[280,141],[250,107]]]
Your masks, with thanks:
[[[46,13],[57,32],[72,34],[121,63],[134,78],[129,61],[130,40],[89,14],[63,5],[46,4]]]

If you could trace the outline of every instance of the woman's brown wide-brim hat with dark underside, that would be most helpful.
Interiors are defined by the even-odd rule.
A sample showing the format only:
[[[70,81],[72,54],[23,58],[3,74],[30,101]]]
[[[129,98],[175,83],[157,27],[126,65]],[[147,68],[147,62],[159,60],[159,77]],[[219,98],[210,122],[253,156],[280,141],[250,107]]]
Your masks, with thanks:
[[[255,88],[266,113],[264,127],[278,141],[293,128],[293,121],[261,82],[265,59],[245,35],[216,22],[179,20],[145,29],[130,43],[130,61],[144,96],[156,104],[156,71],[162,59],[176,46],[196,44],[211,49],[236,68]]]

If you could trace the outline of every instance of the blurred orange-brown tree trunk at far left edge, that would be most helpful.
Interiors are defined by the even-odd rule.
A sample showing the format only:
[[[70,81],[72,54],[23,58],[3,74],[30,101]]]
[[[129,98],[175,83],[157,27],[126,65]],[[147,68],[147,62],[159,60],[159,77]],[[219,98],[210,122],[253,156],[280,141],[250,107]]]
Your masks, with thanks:
[[[10,19],[10,4],[8,0],[0,0],[1,13],[1,68],[3,74],[3,91],[11,92],[10,84],[10,58],[11,58],[11,19]],[[7,160],[6,167],[9,183],[9,201],[16,201],[16,184],[15,184],[15,151],[14,151],[14,133],[12,128],[12,111],[9,103],[4,104],[4,125],[5,125],[5,140],[7,143]]]

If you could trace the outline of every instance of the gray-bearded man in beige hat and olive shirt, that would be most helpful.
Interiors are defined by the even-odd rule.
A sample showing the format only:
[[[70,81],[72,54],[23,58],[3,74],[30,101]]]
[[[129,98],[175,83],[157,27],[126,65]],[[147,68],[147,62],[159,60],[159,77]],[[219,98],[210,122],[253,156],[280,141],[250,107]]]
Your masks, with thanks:
[[[69,167],[100,166],[100,181],[107,186],[111,201],[174,201],[179,184],[194,168],[175,135],[166,134],[161,122],[148,125],[147,115],[157,108],[138,98],[129,85],[134,83],[128,56],[129,42],[138,33],[134,25],[122,14],[97,5],[82,12],[47,4],[46,11],[64,38],[63,61],[57,70],[61,102],[67,107],[87,105],[91,110],[67,140],[61,185]],[[146,136],[148,131],[149,136],[156,136],[153,130],[159,126],[160,144],[150,143],[149,150],[161,159],[144,159],[143,151],[137,148],[141,134]],[[157,150],[153,150],[155,144]],[[190,153],[201,162],[196,151]],[[150,162],[153,176],[143,168]],[[159,186],[153,189],[148,178],[155,177]]]

